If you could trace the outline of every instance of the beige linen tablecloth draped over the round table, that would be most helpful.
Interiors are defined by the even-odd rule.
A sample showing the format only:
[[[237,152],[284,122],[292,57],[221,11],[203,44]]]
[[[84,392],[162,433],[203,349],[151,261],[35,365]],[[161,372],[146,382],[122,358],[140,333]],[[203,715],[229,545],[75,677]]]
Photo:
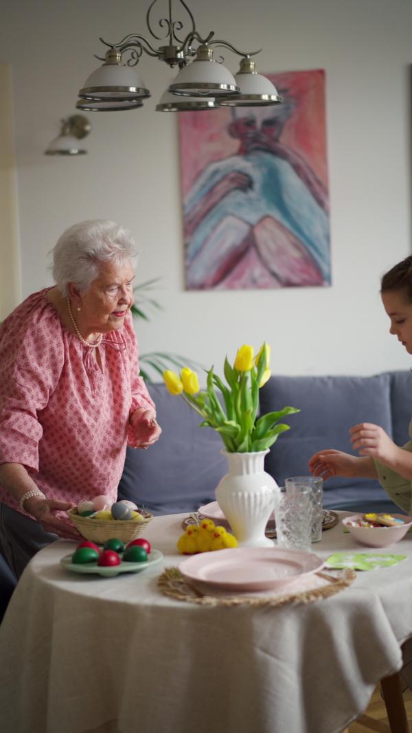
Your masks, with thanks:
[[[400,668],[411,535],[387,550],[407,560],[358,573],[326,600],[210,608],[157,587],[182,560],[183,517],[152,520],[145,537],[164,561],[139,574],[67,572],[59,559],[74,545],[64,540],[34,557],[0,627],[2,732],[337,733]],[[312,549],[374,553],[340,523]]]

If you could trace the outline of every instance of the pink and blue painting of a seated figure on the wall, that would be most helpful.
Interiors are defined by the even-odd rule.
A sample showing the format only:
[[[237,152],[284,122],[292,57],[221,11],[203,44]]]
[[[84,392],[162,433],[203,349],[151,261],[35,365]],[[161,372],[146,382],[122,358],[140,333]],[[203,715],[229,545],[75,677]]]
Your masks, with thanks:
[[[325,72],[267,77],[282,104],[179,114],[187,290],[331,284]]]

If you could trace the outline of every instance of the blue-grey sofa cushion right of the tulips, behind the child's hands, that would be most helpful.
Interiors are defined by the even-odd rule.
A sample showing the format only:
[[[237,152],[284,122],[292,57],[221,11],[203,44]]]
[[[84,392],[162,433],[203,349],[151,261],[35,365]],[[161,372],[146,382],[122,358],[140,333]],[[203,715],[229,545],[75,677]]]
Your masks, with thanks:
[[[279,485],[289,476],[309,475],[308,461],[320,450],[353,452],[349,429],[372,422],[392,435],[391,378],[375,377],[271,377],[260,390],[261,414],[286,405],[300,408],[282,422],[290,425],[266,457],[265,468]],[[330,494],[330,498],[328,497]],[[352,509],[353,502],[390,501],[375,479],[328,479],[325,507]]]

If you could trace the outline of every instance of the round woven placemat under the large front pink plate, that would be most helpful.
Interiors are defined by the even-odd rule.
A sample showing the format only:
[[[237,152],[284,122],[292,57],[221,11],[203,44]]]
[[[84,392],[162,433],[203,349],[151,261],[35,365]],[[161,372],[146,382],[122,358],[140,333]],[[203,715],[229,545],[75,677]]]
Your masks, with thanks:
[[[212,595],[204,594],[198,587],[193,586],[183,579],[177,567],[166,567],[158,579],[158,587],[162,593],[182,600],[186,603],[197,605],[251,605],[251,606],[282,606],[287,603],[314,603],[316,600],[329,598],[340,593],[353,583],[356,578],[355,570],[340,570],[335,572],[317,572],[306,578],[306,587],[293,589],[290,586],[289,592],[265,592],[249,595]],[[312,586],[312,587],[311,587]],[[215,591],[213,590],[213,593]]]

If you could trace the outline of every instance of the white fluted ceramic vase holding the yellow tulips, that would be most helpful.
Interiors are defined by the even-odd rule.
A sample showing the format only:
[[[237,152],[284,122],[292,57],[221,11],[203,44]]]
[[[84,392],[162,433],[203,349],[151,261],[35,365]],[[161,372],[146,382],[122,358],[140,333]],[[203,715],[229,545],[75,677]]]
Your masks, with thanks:
[[[216,487],[216,500],[224,512],[239,547],[273,547],[265,536],[268,519],[273,512],[276,481],[265,471],[265,455],[255,453],[228,453],[229,474]]]

